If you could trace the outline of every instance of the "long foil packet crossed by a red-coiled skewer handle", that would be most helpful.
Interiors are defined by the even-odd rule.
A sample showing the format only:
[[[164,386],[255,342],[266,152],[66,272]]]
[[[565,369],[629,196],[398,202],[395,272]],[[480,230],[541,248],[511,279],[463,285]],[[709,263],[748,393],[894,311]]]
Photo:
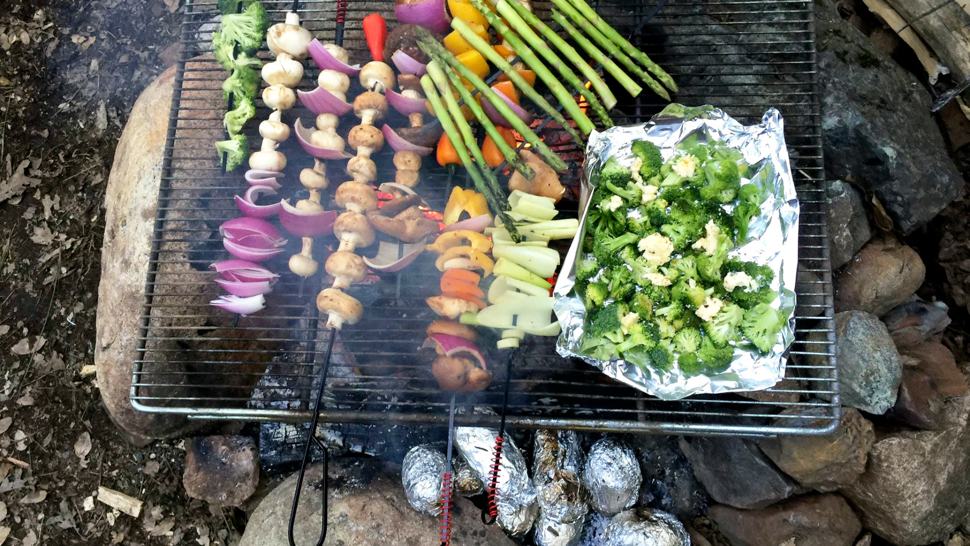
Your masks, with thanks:
[[[455,448],[486,487],[498,435],[494,428],[455,427]],[[498,523],[508,534],[522,536],[532,529],[539,504],[526,460],[508,434],[502,444],[500,465]]]

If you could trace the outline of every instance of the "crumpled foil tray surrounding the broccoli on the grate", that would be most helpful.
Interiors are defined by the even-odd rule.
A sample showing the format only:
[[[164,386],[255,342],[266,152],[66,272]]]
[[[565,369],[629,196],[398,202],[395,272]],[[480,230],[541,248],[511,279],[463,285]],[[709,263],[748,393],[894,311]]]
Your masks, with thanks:
[[[734,349],[730,367],[716,375],[688,376],[678,366],[669,371],[640,368],[622,358],[598,360],[579,353],[586,315],[583,299],[573,290],[576,257],[582,246],[586,216],[592,195],[591,178],[609,157],[625,166],[633,162],[630,145],[647,140],[657,145],[663,158],[671,157],[678,144],[689,137],[699,142],[721,141],[744,154],[751,165],[750,178],[742,185],[758,184],[767,190],[768,198],[761,205],[761,214],[749,227],[751,240],[736,247],[729,254],[744,260],[757,261],[775,272],[772,288],[780,297],[772,306],[787,318],[779,340],[771,351],[761,355],[744,346]],[[792,168],[785,145],[784,121],[781,113],[770,109],[757,125],[742,125],[712,106],[689,108],[671,104],[650,121],[641,125],[610,127],[590,135],[583,167],[583,215],[580,229],[572,240],[563,262],[562,273],[556,283],[556,302],[553,311],[562,326],[556,349],[563,357],[581,358],[606,375],[640,391],[664,400],[675,400],[700,393],[744,392],[768,389],[785,377],[787,351],[794,340],[795,275],[798,262],[798,198],[792,180]],[[732,206],[726,208],[727,212]]]

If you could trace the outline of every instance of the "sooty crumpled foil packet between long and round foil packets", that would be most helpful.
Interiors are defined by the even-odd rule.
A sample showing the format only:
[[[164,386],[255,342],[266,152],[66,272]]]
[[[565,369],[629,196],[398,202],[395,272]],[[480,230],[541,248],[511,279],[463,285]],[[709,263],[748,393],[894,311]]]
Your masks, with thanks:
[[[559,524],[583,519],[590,509],[583,486],[585,459],[574,430],[535,432],[533,483],[540,519]]]

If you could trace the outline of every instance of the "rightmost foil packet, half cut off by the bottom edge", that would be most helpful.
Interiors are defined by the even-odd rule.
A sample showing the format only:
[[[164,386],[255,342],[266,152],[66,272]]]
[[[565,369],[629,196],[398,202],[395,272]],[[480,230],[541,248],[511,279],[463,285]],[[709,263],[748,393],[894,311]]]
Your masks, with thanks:
[[[601,546],[691,546],[691,538],[673,515],[634,508],[610,520]]]

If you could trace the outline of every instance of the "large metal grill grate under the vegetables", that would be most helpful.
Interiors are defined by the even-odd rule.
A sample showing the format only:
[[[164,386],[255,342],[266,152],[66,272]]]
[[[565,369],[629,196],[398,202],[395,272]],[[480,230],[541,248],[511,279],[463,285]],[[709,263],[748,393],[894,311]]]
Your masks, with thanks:
[[[282,20],[289,5],[266,3],[276,20]],[[629,32],[656,5],[656,0],[601,0],[597,6],[618,30]],[[547,4],[533,2],[533,7],[548,19]],[[304,0],[300,11],[316,37],[323,42],[333,38],[335,2]],[[360,21],[372,12],[394,24],[390,2],[350,3],[344,47],[351,62],[370,58]],[[143,411],[195,418],[309,421],[309,400],[314,380],[319,381],[329,333],[317,324],[319,274],[302,285],[286,266],[287,256],[299,251],[299,238],[291,238],[290,252],[268,264],[283,276],[268,295],[265,310],[237,322],[208,305],[218,294],[209,264],[229,256],[217,228],[239,216],[233,196],[245,186],[242,170],[221,174],[212,149],[213,141],[224,138],[221,119],[226,105],[220,85],[225,73],[210,56],[197,55],[210,51],[216,20],[214,2],[187,3],[181,28],[185,48],[178,62],[131,400]],[[633,39],[681,86],[674,97],[678,102],[714,104],[746,123],[775,106],[786,119],[802,214],[791,381],[762,393],[758,400],[701,395],[662,401],[612,382],[583,362],[559,358],[553,338],[530,336],[514,354],[511,426],[678,434],[809,434],[835,426],[839,406],[831,356],[834,323],[814,39],[808,0],[671,1]],[[268,52],[260,55],[267,58]],[[309,90],[317,71],[312,62],[307,64],[301,88]],[[257,119],[265,119],[269,110],[261,101],[257,106]],[[624,102],[621,97],[612,115],[617,124],[642,122],[663,106],[645,90],[635,100],[628,97]],[[296,117],[313,116],[298,107],[287,111],[284,121],[292,123]],[[343,119],[340,129],[345,134],[355,122]],[[403,117],[388,122],[406,125]],[[246,127],[251,142],[258,142],[257,124]],[[564,143],[557,151],[572,161],[572,170],[562,179],[568,191],[560,208],[563,216],[570,210],[574,215],[580,151],[561,134],[547,131],[546,138]],[[280,148],[289,159],[288,178],[280,191],[289,197],[299,195],[296,174],[311,163],[294,140]],[[387,151],[379,154],[378,173],[394,171],[390,157]],[[441,210],[450,188],[468,183],[437,167],[431,158],[424,163],[416,189],[432,208]],[[342,180],[344,175],[334,165],[331,169],[328,178]],[[327,193],[332,196],[332,189]],[[321,421],[446,423],[449,396],[436,387],[431,358],[417,351],[425,327],[435,318],[424,299],[436,294],[438,277],[432,256],[426,255],[400,274],[373,278],[373,283],[349,290],[364,304],[365,318],[345,326],[336,339]],[[492,387],[459,397],[465,411],[457,416],[458,424],[498,424],[497,416],[470,411],[472,406],[501,405],[503,357],[490,357],[496,374]],[[811,410],[819,419],[805,423],[792,412],[778,415],[796,407]]]

